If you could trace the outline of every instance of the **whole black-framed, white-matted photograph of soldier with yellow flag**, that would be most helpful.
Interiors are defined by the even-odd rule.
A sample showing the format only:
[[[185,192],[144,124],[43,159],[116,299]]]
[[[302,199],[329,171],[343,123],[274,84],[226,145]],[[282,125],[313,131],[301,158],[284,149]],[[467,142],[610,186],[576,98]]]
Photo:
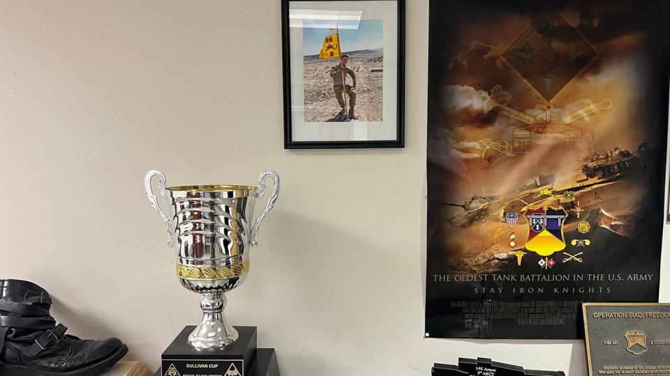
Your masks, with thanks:
[[[403,148],[404,0],[282,0],[284,148]]]

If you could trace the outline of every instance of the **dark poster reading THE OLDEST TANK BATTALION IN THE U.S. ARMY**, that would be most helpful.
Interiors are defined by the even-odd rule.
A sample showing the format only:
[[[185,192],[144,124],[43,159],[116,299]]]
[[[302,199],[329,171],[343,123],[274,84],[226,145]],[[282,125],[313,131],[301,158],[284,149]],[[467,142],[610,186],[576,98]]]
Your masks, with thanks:
[[[431,0],[426,336],[579,338],[657,301],[665,1]]]

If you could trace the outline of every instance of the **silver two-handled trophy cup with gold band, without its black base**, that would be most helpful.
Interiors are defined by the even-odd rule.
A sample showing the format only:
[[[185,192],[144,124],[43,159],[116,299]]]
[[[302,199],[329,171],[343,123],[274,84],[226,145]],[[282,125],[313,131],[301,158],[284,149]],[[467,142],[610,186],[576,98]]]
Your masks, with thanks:
[[[170,215],[158,205],[151,179],[158,177],[158,189],[170,206]],[[274,189],[265,210],[253,219],[256,198],[265,195],[265,179],[274,180]],[[144,190],[168,226],[170,242],[177,243],[177,276],[188,290],[202,294],[202,322],[188,336],[197,348],[230,345],[237,340],[235,330],[225,320],[225,292],[239,286],[249,272],[249,246],[279,195],[279,175],[265,171],[258,187],[251,185],[184,185],[165,187],[165,175],[150,170],[144,176]]]

